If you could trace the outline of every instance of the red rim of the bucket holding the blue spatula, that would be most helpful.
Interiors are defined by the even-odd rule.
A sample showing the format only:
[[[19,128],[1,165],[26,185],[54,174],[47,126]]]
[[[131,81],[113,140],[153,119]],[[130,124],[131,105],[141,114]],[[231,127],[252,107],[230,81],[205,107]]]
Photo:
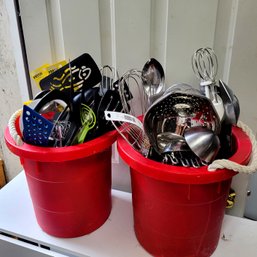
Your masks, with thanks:
[[[56,148],[34,146],[25,142],[18,146],[11,137],[8,127],[5,129],[4,137],[10,151],[20,158],[41,162],[61,162],[88,157],[104,151],[116,141],[117,131],[109,131],[83,144]]]

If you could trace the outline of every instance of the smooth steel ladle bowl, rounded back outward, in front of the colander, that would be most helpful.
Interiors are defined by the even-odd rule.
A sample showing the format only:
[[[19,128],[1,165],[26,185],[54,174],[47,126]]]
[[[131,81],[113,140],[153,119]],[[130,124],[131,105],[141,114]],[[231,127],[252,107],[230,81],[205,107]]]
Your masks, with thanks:
[[[185,140],[201,160],[211,163],[220,149],[219,137],[206,127],[191,127],[184,133]]]

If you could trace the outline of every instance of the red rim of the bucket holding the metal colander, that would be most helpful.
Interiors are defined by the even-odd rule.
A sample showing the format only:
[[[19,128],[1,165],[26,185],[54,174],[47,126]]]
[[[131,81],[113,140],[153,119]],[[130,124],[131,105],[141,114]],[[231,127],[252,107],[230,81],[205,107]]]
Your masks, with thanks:
[[[251,141],[242,129],[238,127],[234,126],[232,133],[237,149],[229,160],[246,165],[251,158]],[[185,168],[159,163],[142,156],[122,137],[118,137],[117,147],[121,158],[134,171],[156,180],[182,184],[207,184],[227,180],[237,174],[227,169],[218,169],[210,172],[206,166]]]

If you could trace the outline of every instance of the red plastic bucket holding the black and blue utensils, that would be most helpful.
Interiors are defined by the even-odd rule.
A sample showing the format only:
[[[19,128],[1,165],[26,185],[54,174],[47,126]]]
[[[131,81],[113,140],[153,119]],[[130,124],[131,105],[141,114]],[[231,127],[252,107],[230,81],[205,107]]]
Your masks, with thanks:
[[[57,237],[77,237],[99,228],[111,212],[111,146],[116,131],[67,147],[17,146],[40,227]]]

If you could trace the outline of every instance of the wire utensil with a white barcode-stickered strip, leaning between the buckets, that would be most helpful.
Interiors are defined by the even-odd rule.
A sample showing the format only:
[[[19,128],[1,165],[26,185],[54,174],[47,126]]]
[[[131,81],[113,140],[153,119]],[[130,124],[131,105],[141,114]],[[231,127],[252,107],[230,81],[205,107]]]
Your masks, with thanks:
[[[118,133],[134,149],[148,156],[150,143],[138,118],[127,113],[105,111],[105,119],[112,122]]]

